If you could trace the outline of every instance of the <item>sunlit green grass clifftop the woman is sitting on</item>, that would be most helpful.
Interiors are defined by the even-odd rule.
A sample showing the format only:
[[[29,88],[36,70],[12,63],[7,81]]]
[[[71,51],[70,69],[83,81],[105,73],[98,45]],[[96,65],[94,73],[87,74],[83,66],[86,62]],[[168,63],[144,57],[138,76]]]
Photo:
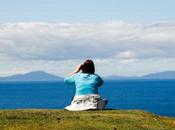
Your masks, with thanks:
[[[140,110],[0,110],[0,130],[175,130],[175,118]]]

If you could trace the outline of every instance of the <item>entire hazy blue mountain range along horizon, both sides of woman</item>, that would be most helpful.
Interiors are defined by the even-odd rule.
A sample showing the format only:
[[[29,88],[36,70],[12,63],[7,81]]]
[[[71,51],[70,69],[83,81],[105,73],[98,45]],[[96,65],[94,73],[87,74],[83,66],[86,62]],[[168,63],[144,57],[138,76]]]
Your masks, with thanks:
[[[105,80],[134,80],[134,79],[175,79],[175,71],[164,71],[159,73],[151,73],[144,76],[117,76],[112,75],[104,77]],[[17,74],[8,77],[0,77],[0,82],[3,81],[62,81],[63,78],[46,73],[44,71],[34,71],[25,74]]]

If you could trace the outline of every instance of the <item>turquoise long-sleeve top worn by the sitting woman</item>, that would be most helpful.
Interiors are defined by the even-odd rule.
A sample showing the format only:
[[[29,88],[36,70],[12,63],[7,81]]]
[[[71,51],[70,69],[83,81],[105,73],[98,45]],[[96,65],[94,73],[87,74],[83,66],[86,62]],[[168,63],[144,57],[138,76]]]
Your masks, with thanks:
[[[76,73],[66,77],[64,82],[75,84],[75,95],[98,94],[98,87],[103,84],[103,80],[97,74]]]

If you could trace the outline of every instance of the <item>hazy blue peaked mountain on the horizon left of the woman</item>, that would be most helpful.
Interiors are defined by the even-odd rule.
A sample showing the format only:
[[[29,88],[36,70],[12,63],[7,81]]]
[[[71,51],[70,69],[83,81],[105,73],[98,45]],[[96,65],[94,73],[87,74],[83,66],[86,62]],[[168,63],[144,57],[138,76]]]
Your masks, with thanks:
[[[44,71],[35,71],[25,74],[17,74],[8,77],[0,77],[0,81],[60,81],[63,78]]]

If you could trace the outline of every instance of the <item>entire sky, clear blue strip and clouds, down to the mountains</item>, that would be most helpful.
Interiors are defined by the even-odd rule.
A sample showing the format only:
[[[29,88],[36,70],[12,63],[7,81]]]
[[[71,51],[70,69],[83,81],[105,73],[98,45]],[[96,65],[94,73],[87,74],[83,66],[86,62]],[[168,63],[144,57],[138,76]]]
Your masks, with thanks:
[[[174,0],[0,0],[0,76],[175,70]]]

